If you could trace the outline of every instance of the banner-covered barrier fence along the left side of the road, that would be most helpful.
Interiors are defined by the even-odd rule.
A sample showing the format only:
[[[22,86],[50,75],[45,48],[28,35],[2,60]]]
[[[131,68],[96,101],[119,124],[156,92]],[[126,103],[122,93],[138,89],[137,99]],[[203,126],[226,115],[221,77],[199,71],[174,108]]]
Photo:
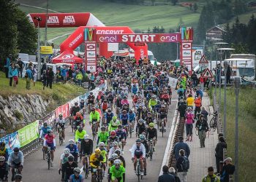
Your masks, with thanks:
[[[93,92],[96,97],[99,90],[102,90],[102,88],[105,89],[105,87],[106,84],[102,84],[90,92]],[[88,95],[89,92],[86,92],[84,95],[80,95],[77,98],[64,103],[62,106],[54,109],[42,119],[31,122],[31,124],[26,125],[20,130],[0,138],[0,142],[4,141],[4,143],[6,143],[8,153],[10,153],[15,147],[19,147],[20,150],[23,151],[24,156],[30,154],[32,151],[36,151],[39,146],[41,146],[41,143],[39,142],[39,129],[42,127],[42,124],[47,122],[48,125],[55,130],[56,117],[58,117],[59,114],[62,114],[64,119],[67,119],[69,117],[69,108],[74,106],[75,102],[79,103],[82,99],[86,100]]]

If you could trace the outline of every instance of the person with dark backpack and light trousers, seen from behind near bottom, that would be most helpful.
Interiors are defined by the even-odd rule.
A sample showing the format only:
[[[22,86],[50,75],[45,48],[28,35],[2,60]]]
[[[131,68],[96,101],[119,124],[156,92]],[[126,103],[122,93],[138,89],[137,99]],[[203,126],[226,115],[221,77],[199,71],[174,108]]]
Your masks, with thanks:
[[[189,170],[189,159],[185,156],[185,151],[179,151],[179,157],[176,161],[177,175],[181,182],[187,182],[187,171]]]

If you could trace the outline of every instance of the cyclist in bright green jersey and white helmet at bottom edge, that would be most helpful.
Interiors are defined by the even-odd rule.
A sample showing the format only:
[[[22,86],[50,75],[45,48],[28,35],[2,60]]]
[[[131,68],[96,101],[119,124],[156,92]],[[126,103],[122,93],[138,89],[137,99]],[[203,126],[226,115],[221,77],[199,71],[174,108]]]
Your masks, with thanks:
[[[114,165],[110,167],[111,182],[125,181],[125,168],[121,166],[121,160],[116,159]]]

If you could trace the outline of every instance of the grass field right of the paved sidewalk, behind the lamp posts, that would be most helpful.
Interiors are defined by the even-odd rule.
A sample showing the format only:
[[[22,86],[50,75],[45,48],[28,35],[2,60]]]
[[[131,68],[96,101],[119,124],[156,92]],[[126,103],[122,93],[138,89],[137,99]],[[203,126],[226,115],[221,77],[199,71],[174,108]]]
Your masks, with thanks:
[[[222,98],[224,90],[222,90]],[[256,90],[241,89],[239,93],[238,143],[239,143],[239,181],[255,181],[255,138],[256,138]],[[236,95],[234,88],[227,90],[227,155],[233,159],[235,154],[235,109]],[[223,121],[223,99],[222,99]]]

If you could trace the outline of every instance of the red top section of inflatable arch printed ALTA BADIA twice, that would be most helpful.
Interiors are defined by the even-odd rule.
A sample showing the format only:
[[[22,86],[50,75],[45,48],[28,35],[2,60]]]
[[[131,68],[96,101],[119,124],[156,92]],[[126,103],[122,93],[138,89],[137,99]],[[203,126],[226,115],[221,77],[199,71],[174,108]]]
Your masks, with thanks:
[[[37,27],[36,17],[41,17],[42,21],[39,21],[39,27],[44,28],[46,23],[45,13],[30,13],[28,15],[31,23]],[[87,25],[90,17],[89,12],[79,12],[79,13],[48,13],[47,26],[48,28],[56,27],[79,27]]]

